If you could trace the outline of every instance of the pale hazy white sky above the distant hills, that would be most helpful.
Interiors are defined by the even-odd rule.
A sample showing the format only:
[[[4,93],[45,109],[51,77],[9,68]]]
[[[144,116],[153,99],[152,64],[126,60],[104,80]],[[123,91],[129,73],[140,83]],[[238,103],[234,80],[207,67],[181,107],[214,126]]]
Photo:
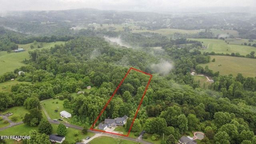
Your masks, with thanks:
[[[256,0],[0,0],[0,11],[66,10],[76,8],[169,11],[178,8],[236,6],[256,6]]]

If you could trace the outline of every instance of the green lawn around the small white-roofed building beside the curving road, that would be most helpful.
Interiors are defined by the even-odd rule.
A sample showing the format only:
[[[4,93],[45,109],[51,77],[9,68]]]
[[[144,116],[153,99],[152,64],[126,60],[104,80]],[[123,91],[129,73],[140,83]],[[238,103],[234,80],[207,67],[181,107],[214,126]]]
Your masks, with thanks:
[[[58,102],[58,104],[56,104],[56,102]],[[58,98],[56,98],[55,100],[54,99],[46,100],[46,101],[42,102],[41,104],[42,104],[42,106],[44,106],[44,109],[46,110],[46,112],[48,113],[50,118],[53,120],[53,119],[61,118],[60,112],[62,110],[66,110],[67,112],[71,113],[70,108],[64,108],[63,102],[64,102],[64,100],[59,100]],[[56,109],[58,109],[58,112],[54,112],[54,110],[56,110]],[[71,123],[73,121],[72,117],[69,119],[67,119],[67,118],[63,118],[63,119],[68,121],[69,123]]]

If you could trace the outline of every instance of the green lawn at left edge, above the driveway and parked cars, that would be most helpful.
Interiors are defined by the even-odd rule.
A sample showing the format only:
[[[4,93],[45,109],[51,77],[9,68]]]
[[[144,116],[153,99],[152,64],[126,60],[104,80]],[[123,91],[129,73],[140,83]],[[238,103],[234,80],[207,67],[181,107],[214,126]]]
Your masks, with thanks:
[[[25,116],[25,114],[29,113],[28,110],[24,106],[14,106],[12,108],[8,108],[7,110],[4,110],[1,113],[6,114],[7,112],[13,113],[12,116],[8,116],[9,120],[12,120],[11,118],[14,116],[18,117],[16,122],[21,122],[22,118]]]

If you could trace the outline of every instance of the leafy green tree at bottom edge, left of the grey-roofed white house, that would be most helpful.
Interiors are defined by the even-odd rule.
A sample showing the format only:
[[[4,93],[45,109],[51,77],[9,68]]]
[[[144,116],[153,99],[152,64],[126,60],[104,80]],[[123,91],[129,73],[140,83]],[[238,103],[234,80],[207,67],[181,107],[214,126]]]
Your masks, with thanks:
[[[36,130],[30,130],[30,139],[27,139],[27,144],[51,144],[49,136],[46,134],[40,134]]]

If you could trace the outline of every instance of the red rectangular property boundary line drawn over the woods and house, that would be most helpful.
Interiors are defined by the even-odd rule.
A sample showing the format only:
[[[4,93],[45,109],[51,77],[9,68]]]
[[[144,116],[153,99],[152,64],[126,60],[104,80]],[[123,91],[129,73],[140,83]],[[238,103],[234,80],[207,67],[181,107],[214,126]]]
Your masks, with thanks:
[[[104,106],[103,110],[100,112],[98,118],[97,118],[97,119],[94,121],[94,123],[92,124],[92,127],[90,128],[90,130],[95,130],[95,129],[93,129],[93,126],[96,124],[96,122],[97,122],[98,119],[100,118],[101,114],[104,112],[105,108],[108,106],[108,103],[110,102],[110,100],[111,100],[111,99],[113,98],[113,96],[116,94],[116,91],[118,90],[118,88],[119,88],[119,87],[121,86],[121,84],[124,82],[124,79],[126,78],[126,76],[128,75],[128,73],[130,72],[130,70],[136,70],[136,71],[138,71],[138,72],[142,72],[142,73],[144,73],[144,74],[147,74],[147,75],[150,76],[150,79],[149,79],[149,81],[148,81],[148,84],[147,84],[146,89],[145,89],[145,91],[144,91],[144,94],[143,94],[143,96],[142,96],[142,99],[140,100],[140,104],[139,104],[138,109],[137,109],[137,111],[136,111],[136,114],[135,114],[135,116],[134,116],[134,118],[133,118],[133,120],[132,120],[132,124],[131,124],[131,126],[130,126],[129,131],[128,131],[128,134],[127,134],[127,135],[123,135],[123,134],[116,134],[116,133],[113,133],[113,132],[106,132],[106,133],[109,133],[109,134],[116,134],[116,135],[120,135],[120,136],[128,136],[128,135],[129,135],[129,133],[130,133],[130,131],[131,131],[131,129],[132,129],[132,125],[133,125],[133,123],[134,123],[134,120],[135,120],[135,118],[136,118],[136,116],[137,116],[137,113],[138,113],[138,111],[139,111],[139,109],[140,109],[140,105],[142,104],[142,100],[143,100],[143,98],[144,98],[144,96],[145,96],[145,94],[146,94],[146,91],[147,91],[147,89],[148,89],[148,85],[149,85],[149,83],[150,83],[150,80],[151,80],[151,78],[152,78],[152,74],[148,74],[148,73],[146,73],[146,72],[143,72],[143,71],[141,71],[141,70],[137,70],[137,69],[135,69],[135,68],[130,68],[130,69],[128,70],[128,72],[126,73],[126,75],[124,76],[124,78],[122,79],[122,81],[120,82],[120,84],[118,85],[118,87],[116,88],[115,92],[112,94],[111,98],[108,100],[107,104]],[[95,130],[95,131],[105,132],[105,131],[102,131],[102,130]]]

